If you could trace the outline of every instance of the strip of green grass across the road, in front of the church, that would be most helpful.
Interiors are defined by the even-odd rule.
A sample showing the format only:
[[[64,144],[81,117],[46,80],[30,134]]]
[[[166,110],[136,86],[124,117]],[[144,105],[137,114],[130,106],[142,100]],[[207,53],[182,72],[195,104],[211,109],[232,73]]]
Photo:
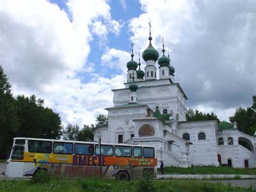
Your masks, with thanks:
[[[160,170],[158,170],[160,173]],[[180,167],[164,167],[164,173],[180,173],[180,174],[234,174],[234,175],[255,175],[256,168],[243,169],[231,168],[228,166],[196,166],[189,168]]]

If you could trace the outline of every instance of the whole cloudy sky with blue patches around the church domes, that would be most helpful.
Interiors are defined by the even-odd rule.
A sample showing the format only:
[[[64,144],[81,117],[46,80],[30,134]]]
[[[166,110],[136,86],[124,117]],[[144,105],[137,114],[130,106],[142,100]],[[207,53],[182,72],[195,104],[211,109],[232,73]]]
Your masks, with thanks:
[[[253,0],[0,0],[0,65],[14,96],[44,99],[63,125],[94,124],[113,106],[111,89],[124,88],[131,42],[137,61],[147,48],[148,22],[187,108],[228,120],[252,105]]]

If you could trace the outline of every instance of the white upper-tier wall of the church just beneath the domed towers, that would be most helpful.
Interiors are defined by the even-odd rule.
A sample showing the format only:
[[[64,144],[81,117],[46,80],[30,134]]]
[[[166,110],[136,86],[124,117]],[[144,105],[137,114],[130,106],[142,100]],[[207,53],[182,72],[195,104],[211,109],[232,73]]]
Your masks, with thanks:
[[[152,85],[150,85],[150,83]],[[159,82],[158,82],[159,83]],[[163,109],[167,109],[168,113],[173,111],[173,116],[179,115],[179,121],[186,120],[185,97],[180,91],[177,84],[170,83],[169,79],[165,79],[163,84],[156,84],[154,81],[141,81],[137,90],[138,103],[147,104],[154,111],[156,106],[163,113]],[[126,84],[125,84],[126,86]],[[129,84],[127,85],[129,86]],[[130,90],[128,88],[113,90],[114,106],[120,106],[129,102]]]

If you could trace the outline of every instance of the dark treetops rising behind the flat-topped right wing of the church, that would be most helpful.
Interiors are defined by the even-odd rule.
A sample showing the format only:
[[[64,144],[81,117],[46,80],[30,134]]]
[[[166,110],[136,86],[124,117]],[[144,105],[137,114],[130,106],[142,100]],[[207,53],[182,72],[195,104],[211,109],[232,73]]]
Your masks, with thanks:
[[[204,120],[218,120],[218,116],[216,114],[212,113],[202,113],[198,109],[191,109],[189,108],[186,113],[186,119],[188,122],[191,121],[204,121]]]

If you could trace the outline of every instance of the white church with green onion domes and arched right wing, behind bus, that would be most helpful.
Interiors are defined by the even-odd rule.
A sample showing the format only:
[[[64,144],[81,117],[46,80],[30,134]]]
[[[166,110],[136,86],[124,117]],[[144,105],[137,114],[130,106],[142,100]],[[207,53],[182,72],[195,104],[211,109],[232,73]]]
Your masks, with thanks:
[[[159,58],[151,32],[148,40],[142,54],[144,70],[140,60],[133,60],[132,51],[127,82],[124,88],[112,90],[114,106],[106,108],[108,127],[96,127],[94,141],[101,138],[105,143],[154,146],[158,162],[163,161],[164,166],[256,167],[256,137],[238,131],[236,124],[219,124],[217,120],[186,122],[188,97],[175,82],[169,55],[165,56],[163,45]]]

